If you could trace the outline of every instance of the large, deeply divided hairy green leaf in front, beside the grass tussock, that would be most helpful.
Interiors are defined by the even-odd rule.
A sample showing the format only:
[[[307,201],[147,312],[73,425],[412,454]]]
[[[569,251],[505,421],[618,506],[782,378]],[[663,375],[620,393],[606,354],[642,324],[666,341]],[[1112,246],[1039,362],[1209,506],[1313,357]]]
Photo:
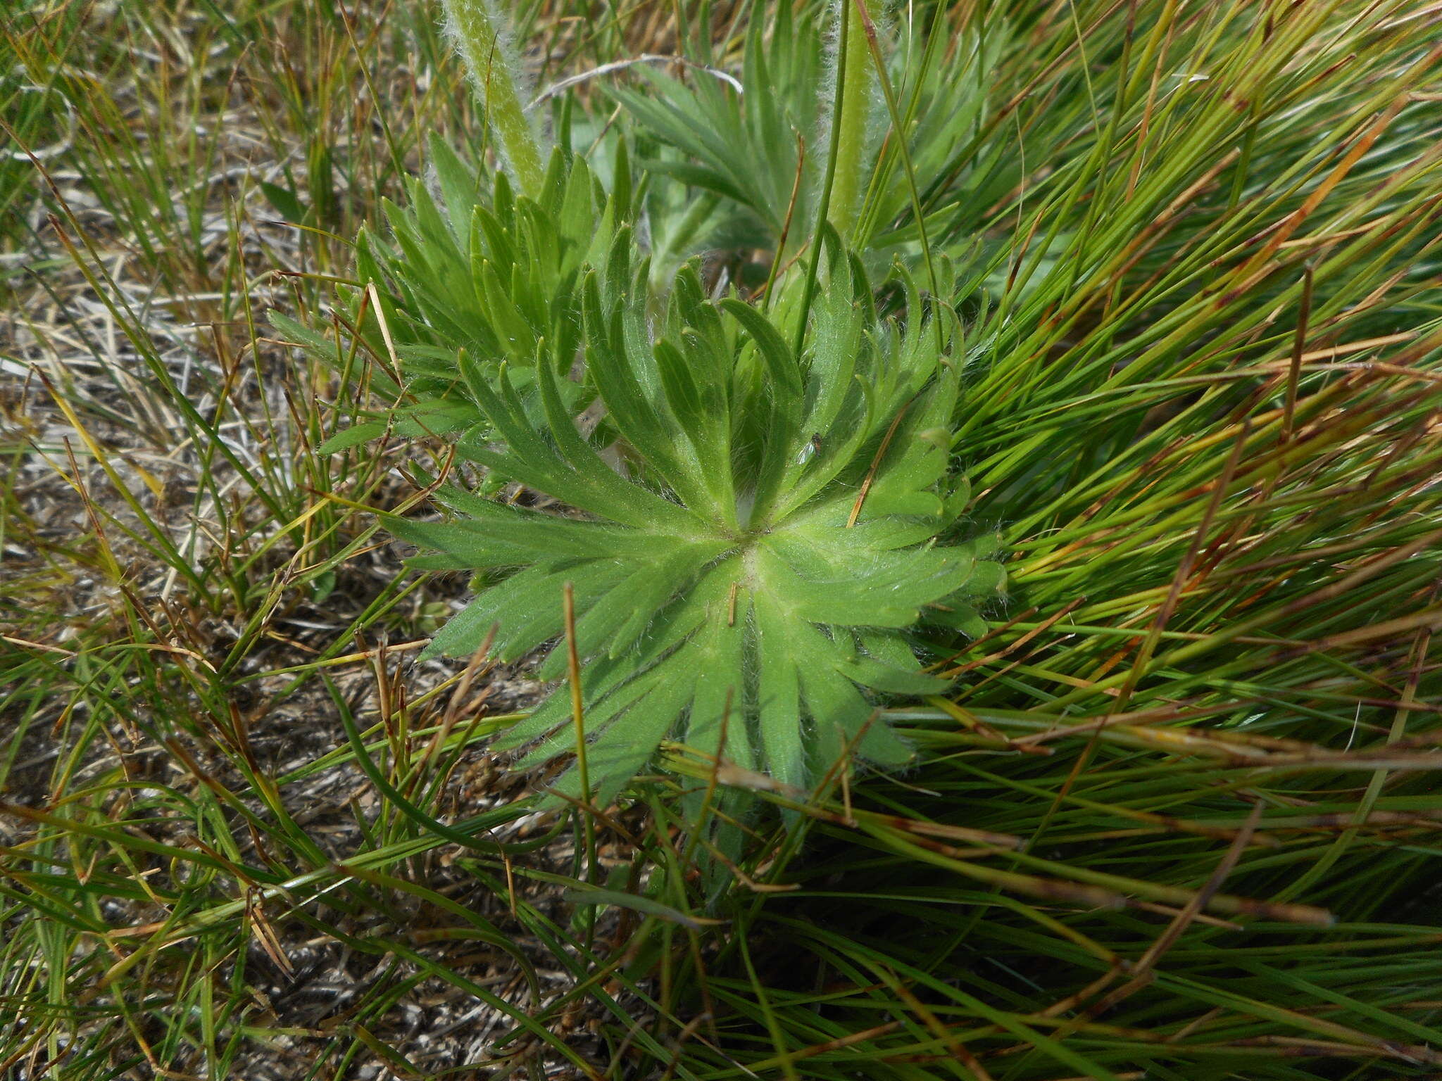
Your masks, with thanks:
[[[767,314],[707,301],[689,270],[652,340],[639,275],[613,248],[583,284],[587,379],[606,406],[590,435],[549,366],[531,399],[505,370],[467,372],[486,424],[461,454],[571,510],[443,491],[454,520],[394,523],[446,565],[509,571],[431,653],[464,656],[492,627],[505,660],[559,643],[571,585],[596,800],[666,738],[797,787],[851,760],[907,761],[877,696],[946,686],[907,631],[970,627],[999,588],[999,564],[950,539],[960,504],[936,430],[959,393],[943,352],[955,319],[939,326],[913,300],[901,330],[877,317],[859,264],[833,257],[828,274],[799,356],[795,290]],[[567,656],[555,644],[539,676],[564,679]],[[529,747],[538,765],[575,752],[572,725],[557,693],[497,748]],[[558,788],[578,794],[574,770]]]

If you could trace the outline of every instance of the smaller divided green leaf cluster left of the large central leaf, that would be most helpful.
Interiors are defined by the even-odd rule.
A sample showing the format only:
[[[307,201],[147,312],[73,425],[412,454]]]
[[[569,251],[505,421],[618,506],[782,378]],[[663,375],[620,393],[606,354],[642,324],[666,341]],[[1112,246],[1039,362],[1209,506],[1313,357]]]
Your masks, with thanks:
[[[275,313],[287,339],[303,343],[350,383],[363,342],[381,370],[368,386],[389,408],[322,444],[336,453],[381,435],[446,435],[480,424],[464,352],[495,379],[500,363],[529,386],[535,366],[570,369],[580,340],[580,275],[600,262],[630,215],[624,184],[609,195],[580,157],[557,150],[532,196],[513,195],[505,174],[489,182],[441,141],[431,144],[438,200],[420,180],[405,208],[386,200],[389,241],[362,229],[355,281],[339,290],[346,349],[298,320]],[[626,176],[624,146],[617,174]],[[580,388],[564,383],[567,401]]]

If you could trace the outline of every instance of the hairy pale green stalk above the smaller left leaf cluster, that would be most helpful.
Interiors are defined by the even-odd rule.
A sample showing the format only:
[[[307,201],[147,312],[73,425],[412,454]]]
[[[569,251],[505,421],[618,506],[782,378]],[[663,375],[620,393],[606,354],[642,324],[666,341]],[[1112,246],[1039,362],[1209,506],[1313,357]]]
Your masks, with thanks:
[[[535,197],[545,179],[541,140],[523,107],[526,81],[496,0],[441,0],[446,29],[480,91],[500,160],[518,190]]]

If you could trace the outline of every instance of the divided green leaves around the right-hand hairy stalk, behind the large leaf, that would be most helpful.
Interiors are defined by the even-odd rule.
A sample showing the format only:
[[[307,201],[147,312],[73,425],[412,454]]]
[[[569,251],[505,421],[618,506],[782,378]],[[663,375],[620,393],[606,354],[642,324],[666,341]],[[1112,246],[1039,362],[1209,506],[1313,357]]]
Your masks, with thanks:
[[[929,216],[950,235],[963,235],[1018,182],[1007,133],[985,127],[994,108],[988,81],[1011,45],[1008,13],[981,30],[953,26],[945,6],[906,20],[883,7],[868,4],[865,19],[855,0],[758,12],[740,66],[750,92],[707,74],[682,81],[652,69],[642,71],[643,86],[611,91],[637,125],[642,167],[689,192],[691,205],[672,213],[704,219],[698,233],[684,233],[686,242],[780,248],[789,258],[812,239],[831,176],[828,221],[871,265],[890,249],[919,255],[904,157],[923,192],[945,195]],[[696,49],[714,59],[709,43]],[[895,88],[906,156],[880,105],[874,53]],[[957,254],[973,239],[965,236]]]

